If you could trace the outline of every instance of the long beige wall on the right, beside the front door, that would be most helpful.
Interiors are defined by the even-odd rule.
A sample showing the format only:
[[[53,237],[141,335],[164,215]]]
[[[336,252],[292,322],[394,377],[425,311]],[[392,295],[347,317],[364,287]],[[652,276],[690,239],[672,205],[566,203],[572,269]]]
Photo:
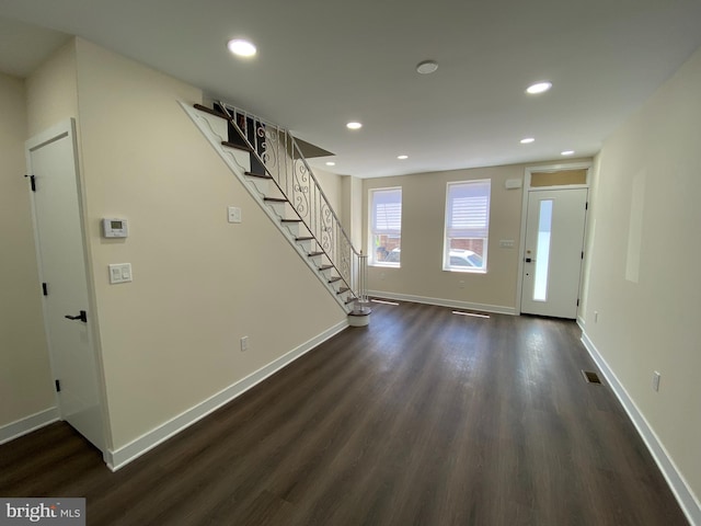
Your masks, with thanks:
[[[595,163],[584,315],[586,335],[697,503],[701,499],[699,93],[701,50],[605,142]],[[662,374],[658,392],[652,388],[655,370]]]

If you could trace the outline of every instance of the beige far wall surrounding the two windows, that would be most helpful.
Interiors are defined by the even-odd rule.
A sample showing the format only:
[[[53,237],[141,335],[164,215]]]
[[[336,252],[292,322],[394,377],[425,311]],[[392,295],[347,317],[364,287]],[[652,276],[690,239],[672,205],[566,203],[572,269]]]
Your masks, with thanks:
[[[513,164],[364,180],[365,250],[368,250],[368,191],[402,187],[401,268],[370,267],[369,289],[390,297],[515,312],[522,190],[506,190],[504,185],[508,179],[522,179],[525,168]],[[444,271],[446,185],[479,179],[492,181],[487,272]],[[514,247],[499,248],[499,240],[513,240]]]

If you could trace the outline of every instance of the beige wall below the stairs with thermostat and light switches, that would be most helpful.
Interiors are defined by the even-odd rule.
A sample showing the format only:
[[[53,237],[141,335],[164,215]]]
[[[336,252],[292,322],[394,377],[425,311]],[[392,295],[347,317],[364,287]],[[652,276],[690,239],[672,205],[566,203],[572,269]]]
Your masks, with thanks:
[[[87,221],[119,448],[345,316],[177,104],[199,102],[199,90],[81,39],[77,49]],[[227,222],[228,205],[241,207],[242,224]],[[129,238],[102,239],[105,216],[127,218]],[[110,285],[107,265],[123,262],[134,282]]]

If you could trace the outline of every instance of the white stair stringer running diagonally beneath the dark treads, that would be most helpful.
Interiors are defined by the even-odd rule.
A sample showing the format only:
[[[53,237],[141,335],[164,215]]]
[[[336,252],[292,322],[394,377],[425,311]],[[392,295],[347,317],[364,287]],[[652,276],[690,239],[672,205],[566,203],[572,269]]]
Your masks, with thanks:
[[[310,250],[307,249],[307,242],[297,241],[297,236],[295,236],[292,231],[287,228],[285,224],[283,224],[281,218],[284,217],[284,215],[279,211],[279,207],[276,210],[274,205],[266,204],[263,201],[264,195],[261,192],[260,183],[256,185],[256,183],[252,181],[252,178],[245,175],[246,172],[251,170],[249,152],[222,145],[222,142],[227,141],[229,138],[227,121],[216,115],[196,110],[195,107],[192,107],[191,105],[185,104],[182,101],[177,102],[185,111],[185,113],[189,116],[195,126],[197,126],[199,132],[205,136],[215,151],[223,160],[225,164],[227,164],[231,173],[235,175],[235,178],[243,185],[246,192],[251,195],[251,197],[253,197],[253,201],[258,204],[261,209],[265,213],[265,215],[268,216],[271,221],[276,226],[283,237],[289,242],[292,249],[295,249],[295,252],[300,256],[300,259],[304,262],[309,270],[319,278],[321,284],[324,286],[324,288],[326,288],[329,294],[331,294],[336,304],[338,304],[344,312],[349,313],[353,310],[354,304],[346,304],[346,299],[350,298],[350,296],[346,295],[352,294],[350,290],[338,294],[343,281],[329,283],[326,271],[320,271],[318,268],[319,259],[309,256]]]

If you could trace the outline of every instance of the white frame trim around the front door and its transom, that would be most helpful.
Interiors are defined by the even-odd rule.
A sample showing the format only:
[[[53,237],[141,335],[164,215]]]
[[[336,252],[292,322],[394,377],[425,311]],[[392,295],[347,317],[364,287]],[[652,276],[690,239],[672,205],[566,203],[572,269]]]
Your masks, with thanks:
[[[533,167],[526,167],[524,170],[524,191],[521,195],[521,231],[519,237],[519,251],[518,251],[518,278],[516,281],[516,313],[521,313],[521,299],[524,294],[524,258],[526,258],[526,221],[528,218],[528,196],[531,192],[547,191],[547,190],[574,190],[574,188],[589,188],[591,182],[591,167],[593,161],[579,161],[579,162],[564,162],[558,164],[539,164]],[[587,170],[587,182],[585,184],[567,184],[562,186],[538,186],[531,187],[530,180],[533,172],[560,172],[566,170]],[[589,192],[589,196],[591,192]],[[584,235],[586,240],[587,224],[585,221]],[[585,259],[587,254],[584,254]],[[584,268],[584,261],[582,262]],[[582,275],[579,276],[579,296],[582,296]]]

